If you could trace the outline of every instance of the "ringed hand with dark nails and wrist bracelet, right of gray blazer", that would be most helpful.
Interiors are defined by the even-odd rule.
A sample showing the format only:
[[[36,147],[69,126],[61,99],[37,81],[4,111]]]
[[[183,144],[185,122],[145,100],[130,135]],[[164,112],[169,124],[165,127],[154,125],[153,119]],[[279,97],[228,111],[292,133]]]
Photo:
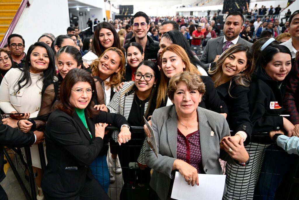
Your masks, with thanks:
[[[232,136],[228,137],[227,139],[222,139],[222,149],[226,151],[230,157],[239,161],[240,163],[247,162],[249,159],[249,154],[244,147],[243,139],[241,139],[240,137],[239,139],[234,139],[233,137],[239,136]],[[237,142],[238,140],[239,142]]]

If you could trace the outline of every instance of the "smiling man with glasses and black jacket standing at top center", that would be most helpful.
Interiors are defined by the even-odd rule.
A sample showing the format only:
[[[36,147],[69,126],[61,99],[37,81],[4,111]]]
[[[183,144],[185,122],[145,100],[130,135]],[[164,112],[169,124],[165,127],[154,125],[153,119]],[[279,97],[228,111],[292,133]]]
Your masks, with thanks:
[[[149,31],[149,17],[144,12],[137,12],[131,19],[131,29],[135,37],[132,37],[130,42],[139,43],[144,52],[144,60],[157,60],[157,53],[159,50],[159,42],[154,41],[150,36],[147,35]],[[124,45],[126,49],[127,44]]]

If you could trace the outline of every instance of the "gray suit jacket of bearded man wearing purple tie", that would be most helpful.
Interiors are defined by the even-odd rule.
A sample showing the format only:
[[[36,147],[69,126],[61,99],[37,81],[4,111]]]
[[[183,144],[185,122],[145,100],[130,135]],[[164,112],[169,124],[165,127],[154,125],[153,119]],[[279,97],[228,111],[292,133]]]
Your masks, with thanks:
[[[205,47],[204,52],[200,57],[200,61],[202,61],[202,63],[205,63],[205,69],[208,69],[210,67],[210,63],[214,62],[216,55],[222,54],[223,37],[224,36],[208,40],[207,46]],[[241,37],[239,37],[237,44],[252,46],[252,43],[242,39]]]

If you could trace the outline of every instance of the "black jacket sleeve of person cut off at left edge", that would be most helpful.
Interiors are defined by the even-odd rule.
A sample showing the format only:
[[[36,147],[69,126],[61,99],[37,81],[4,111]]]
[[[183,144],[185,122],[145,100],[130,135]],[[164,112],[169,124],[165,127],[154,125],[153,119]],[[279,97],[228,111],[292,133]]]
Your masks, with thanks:
[[[35,136],[32,131],[23,133],[10,126],[4,125],[0,120],[0,182],[5,178],[3,171],[4,165],[4,153],[3,146],[9,147],[25,147],[33,145],[35,142]]]

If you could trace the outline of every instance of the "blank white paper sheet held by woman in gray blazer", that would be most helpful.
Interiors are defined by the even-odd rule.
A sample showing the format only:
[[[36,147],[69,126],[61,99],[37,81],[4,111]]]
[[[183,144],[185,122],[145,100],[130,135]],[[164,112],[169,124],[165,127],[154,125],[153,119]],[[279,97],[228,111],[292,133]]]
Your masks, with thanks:
[[[199,186],[188,185],[180,172],[176,172],[171,198],[178,200],[221,200],[225,175],[198,174]]]

